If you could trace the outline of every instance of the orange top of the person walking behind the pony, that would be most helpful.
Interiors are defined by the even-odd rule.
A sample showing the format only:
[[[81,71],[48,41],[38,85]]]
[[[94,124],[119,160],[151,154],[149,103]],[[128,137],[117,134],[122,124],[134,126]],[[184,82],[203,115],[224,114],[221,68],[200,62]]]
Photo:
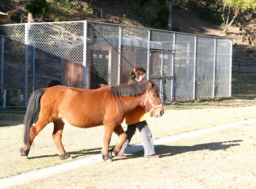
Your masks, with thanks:
[[[131,82],[129,82],[130,84]],[[148,112],[145,112],[145,107],[138,106],[125,117],[125,122],[128,125],[145,121],[148,118]]]

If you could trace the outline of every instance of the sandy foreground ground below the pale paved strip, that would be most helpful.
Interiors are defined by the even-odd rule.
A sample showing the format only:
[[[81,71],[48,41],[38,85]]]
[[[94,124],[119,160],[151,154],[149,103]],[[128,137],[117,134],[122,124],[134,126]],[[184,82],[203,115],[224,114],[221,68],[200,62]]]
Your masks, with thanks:
[[[255,114],[256,107],[251,106],[248,111]],[[14,188],[251,189],[256,185],[255,127],[256,122],[243,124],[160,145],[156,147],[160,155],[157,160],[144,159],[140,152],[127,159],[94,163]]]

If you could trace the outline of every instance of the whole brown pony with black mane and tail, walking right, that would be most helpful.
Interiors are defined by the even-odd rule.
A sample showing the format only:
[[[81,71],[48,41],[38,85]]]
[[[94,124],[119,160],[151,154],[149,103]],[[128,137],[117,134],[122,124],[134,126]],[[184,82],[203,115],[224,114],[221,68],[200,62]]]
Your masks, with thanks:
[[[116,156],[126,141],[127,136],[121,123],[128,112],[137,106],[145,106],[146,111],[150,111],[150,116],[164,114],[158,91],[157,85],[151,81],[134,85],[102,86],[94,90],[64,86],[38,89],[28,100],[21,156],[28,158],[36,135],[48,123],[53,122],[52,137],[60,159],[70,157],[61,142],[64,124],[80,128],[104,125],[102,157],[105,161],[112,161],[111,156]],[[32,126],[39,109],[38,121]],[[113,132],[119,136],[119,140],[110,156],[108,147]]]

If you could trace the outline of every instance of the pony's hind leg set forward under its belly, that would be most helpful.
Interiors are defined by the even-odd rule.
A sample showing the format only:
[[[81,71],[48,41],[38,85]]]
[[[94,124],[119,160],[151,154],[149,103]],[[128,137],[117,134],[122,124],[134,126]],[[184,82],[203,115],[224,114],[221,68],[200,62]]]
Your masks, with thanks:
[[[55,120],[54,122],[54,130],[52,133],[52,138],[55,143],[55,146],[58,150],[59,158],[60,159],[68,159],[70,157],[69,154],[66,153],[64,150],[64,147],[61,142],[61,137],[62,137],[62,131],[64,128],[64,122],[62,120]]]

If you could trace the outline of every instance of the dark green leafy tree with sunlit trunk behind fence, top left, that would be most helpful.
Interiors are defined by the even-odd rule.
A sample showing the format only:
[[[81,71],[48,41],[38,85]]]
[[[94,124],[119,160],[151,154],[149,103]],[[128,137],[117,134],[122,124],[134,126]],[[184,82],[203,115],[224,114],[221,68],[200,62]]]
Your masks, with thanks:
[[[25,4],[25,10],[28,12],[28,22],[34,22],[35,16],[45,14],[48,8],[46,0],[28,0]]]

